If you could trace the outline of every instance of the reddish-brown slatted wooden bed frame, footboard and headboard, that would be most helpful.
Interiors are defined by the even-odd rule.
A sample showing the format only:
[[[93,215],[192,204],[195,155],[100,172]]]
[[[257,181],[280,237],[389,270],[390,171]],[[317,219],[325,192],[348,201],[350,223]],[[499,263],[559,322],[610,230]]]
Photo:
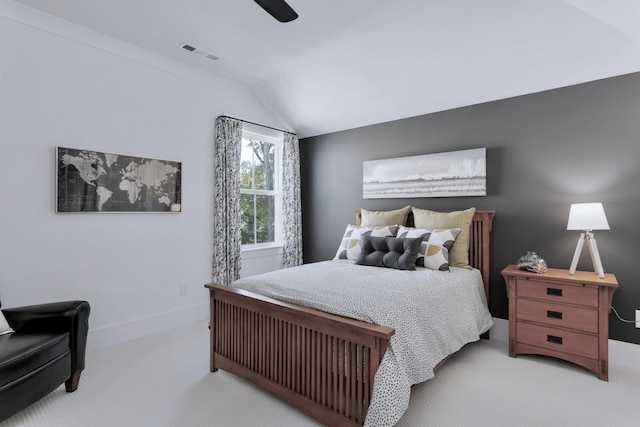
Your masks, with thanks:
[[[487,300],[493,216],[494,211],[476,211],[469,244],[469,262],[482,272]],[[220,368],[251,381],[325,425],[364,423],[392,328],[229,286],[205,286],[211,372]]]

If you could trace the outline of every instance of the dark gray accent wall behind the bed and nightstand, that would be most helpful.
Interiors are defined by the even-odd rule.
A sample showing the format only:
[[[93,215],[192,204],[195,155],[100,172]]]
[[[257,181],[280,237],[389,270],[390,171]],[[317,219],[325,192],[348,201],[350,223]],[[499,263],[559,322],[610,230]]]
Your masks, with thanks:
[[[478,147],[485,197],[362,198],[363,161]],[[640,309],[639,73],[306,138],[300,156],[306,263],[333,258],[361,207],[494,209],[490,309],[506,319],[500,270],[527,250],[568,269],[580,234],[566,229],[569,205],[597,201],[611,226],[595,231],[602,263],[620,284],[613,306],[630,320]],[[578,269],[592,268],[585,247]],[[640,344],[640,329],[612,313],[610,338]]]

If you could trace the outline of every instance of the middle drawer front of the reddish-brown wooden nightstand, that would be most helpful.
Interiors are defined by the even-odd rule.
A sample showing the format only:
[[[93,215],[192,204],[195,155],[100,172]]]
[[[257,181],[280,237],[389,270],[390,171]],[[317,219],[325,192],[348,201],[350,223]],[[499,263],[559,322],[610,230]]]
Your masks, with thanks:
[[[598,333],[598,310],[551,302],[518,299],[517,319],[561,328]]]

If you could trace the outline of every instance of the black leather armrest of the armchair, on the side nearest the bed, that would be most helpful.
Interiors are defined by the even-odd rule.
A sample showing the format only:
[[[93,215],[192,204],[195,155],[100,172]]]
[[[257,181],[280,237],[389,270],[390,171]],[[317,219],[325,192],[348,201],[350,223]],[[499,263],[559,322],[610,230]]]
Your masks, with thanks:
[[[87,301],[63,301],[2,309],[7,322],[16,333],[68,332],[72,373],[84,369],[90,312],[91,307]]]

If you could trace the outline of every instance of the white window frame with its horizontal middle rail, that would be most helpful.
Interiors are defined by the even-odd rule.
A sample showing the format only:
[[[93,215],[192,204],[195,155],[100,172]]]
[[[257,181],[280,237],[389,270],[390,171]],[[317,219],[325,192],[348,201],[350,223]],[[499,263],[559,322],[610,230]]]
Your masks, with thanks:
[[[256,189],[246,189],[240,188],[240,195],[242,194],[251,194],[251,195],[273,195],[274,196],[274,212],[273,212],[273,222],[274,222],[274,241],[273,242],[263,242],[263,243],[241,243],[240,250],[241,251],[254,251],[260,249],[269,249],[269,248],[281,248],[283,246],[282,240],[282,146],[284,140],[284,134],[282,132],[274,131],[268,132],[267,129],[263,130],[260,128],[254,128],[252,126],[245,125],[242,130],[242,148],[244,147],[245,140],[254,139],[260,140],[262,142],[274,144],[275,152],[274,152],[274,188],[273,190],[256,190]],[[242,149],[241,148],[241,149]],[[255,213],[254,213],[255,215]],[[242,220],[241,220],[242,221]],[[254,221],[255,224],[255,221]],[[255,229],[254,229],[254,238],[255,238]]]

